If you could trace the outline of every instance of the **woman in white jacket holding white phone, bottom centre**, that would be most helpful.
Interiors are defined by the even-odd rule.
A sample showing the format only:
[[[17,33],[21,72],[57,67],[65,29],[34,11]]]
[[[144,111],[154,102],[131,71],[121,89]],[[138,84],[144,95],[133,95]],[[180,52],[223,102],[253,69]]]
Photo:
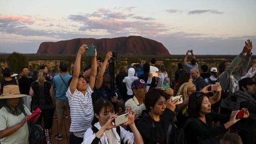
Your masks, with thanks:
[[[133,133],[126,131],[121,126],[115,126],[113,120],[117,117],[111,102],[106,99],[99,99],[94,104],[95,116],[92,122],[92,128],[87,129],[83,136],[82,144],[143,144],[143,139],[134,124],[132,109],[127,108],[129,120],[128,124]],[[96,129],[96,131],[95,131]],[[119,131],[119,132],[118,132]],[[119,136],[120,135],[120,136]]]

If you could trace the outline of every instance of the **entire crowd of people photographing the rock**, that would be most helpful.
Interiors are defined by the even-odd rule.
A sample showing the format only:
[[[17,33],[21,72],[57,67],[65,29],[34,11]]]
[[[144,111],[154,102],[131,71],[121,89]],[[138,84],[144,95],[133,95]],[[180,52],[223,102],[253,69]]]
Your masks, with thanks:
[[[58,140],[63,139],[63,118],[70,117],[70,144],[256,144],[256,59],[249,68],[251,41],[231,62],[209,71],[207,65],[200,70],[193,50],[187,51],[183,64],[177,65],[175,87],[170,87],[165,66],[156,67],[154,58],[127,69],[121,66],[115,76],[109,68],[115,55],[108,52],[104,61],[97,60],[96,46],[91,65],[81,73],[87,49],[86,44],[80,46],[72,74],[66,63],[51,74],[47,66],[33,73],[24,66],[21,76],[2,70],[1,144],[29,144],[26,123],[37,108],[42,113],[34,122]],[[55,111],[58,132],[52,130]],[[127,120],[115,125],[117,113],[124,111]]]

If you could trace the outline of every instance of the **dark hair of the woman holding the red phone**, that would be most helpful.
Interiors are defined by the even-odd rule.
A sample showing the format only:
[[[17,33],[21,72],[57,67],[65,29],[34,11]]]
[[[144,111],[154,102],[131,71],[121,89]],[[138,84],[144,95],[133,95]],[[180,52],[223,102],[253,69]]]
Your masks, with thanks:
[[[199,95],[199,96],[198,96]],[[189,96],[189,102],[187,107],[187,113],[189,118],[199,118],[199,111],[202,107],[202,100],[204,97],[209,98],[209,96],[203,92],[193,92]]]

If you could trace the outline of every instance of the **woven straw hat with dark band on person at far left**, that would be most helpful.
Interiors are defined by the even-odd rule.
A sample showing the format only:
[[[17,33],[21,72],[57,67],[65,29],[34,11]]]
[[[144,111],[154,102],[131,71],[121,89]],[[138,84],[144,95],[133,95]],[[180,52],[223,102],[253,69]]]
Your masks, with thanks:
[[[6,85],[3,88],[3,94],[1,94],[0,99],[20,98],[23,96],[26,96],[26,94],[20,94],[18,85]]]

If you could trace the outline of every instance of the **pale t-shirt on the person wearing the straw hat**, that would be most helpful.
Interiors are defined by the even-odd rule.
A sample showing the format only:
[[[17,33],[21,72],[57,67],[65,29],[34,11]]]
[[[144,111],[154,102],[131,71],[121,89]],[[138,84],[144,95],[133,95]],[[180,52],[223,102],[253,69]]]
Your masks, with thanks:
[[[24,105],[24,110],[27,115],[31,114],[25,105]],[[22,121],[24,117],[25,115],[23,113],[21,113],[18,116],[15,116],[13,114],[10,114],[5,107],[2,107],[2,109],[0,109],[0,131],[16,126]],[[25,123],[13,134],[7,137],[1,138],[0,142],[1,144],[29,144],[28,138],[29,138],[28,124]]]

